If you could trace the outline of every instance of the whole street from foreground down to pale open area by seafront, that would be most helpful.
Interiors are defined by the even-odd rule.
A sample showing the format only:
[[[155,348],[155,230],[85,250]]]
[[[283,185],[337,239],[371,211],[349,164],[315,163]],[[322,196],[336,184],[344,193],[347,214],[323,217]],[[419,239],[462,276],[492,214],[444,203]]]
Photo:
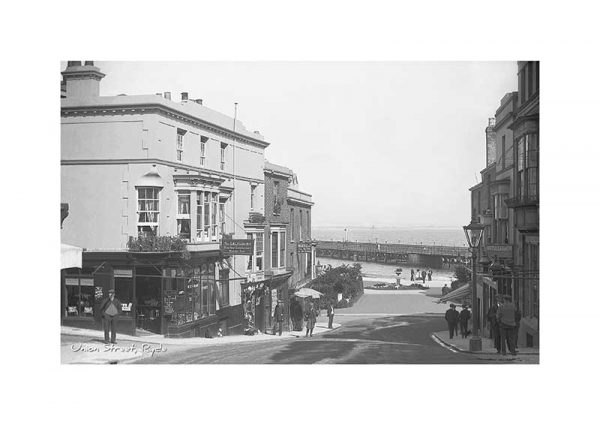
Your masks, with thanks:
[[[435,295],[435,291],[433,290]],[[439,288],[437,288],[439,291]],[[342,326],[312,338],[242,342],[208,347],[177,347],[137,363],[229,364],[464,364],[497,363],[453,352],[432,339],[445,329],[448,307],[420,291],[365,290],[358,302],[340,309]],[[404,314],[401,316],[400,314]],[[319,317],[323,323],[327,318]],[[251,338],[251,337],[249,337]]]

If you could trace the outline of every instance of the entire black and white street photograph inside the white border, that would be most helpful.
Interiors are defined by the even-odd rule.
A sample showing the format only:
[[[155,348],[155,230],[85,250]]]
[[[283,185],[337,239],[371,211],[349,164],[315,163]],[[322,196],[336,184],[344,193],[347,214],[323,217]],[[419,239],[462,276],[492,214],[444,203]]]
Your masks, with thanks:
[[[62,362],[538,363],[540,68],[61,62]]]

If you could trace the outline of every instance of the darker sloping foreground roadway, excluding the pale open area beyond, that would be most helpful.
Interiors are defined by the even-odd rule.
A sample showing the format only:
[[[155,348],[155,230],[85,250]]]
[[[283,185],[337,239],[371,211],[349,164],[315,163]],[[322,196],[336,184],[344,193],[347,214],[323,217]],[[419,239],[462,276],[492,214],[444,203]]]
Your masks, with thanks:
[[[193,347],[138,363],[482,363],[470,354],[453,353],[433,341],[430,334],[443,328],[442,320],[436,316],[361,317],[312,338]]]

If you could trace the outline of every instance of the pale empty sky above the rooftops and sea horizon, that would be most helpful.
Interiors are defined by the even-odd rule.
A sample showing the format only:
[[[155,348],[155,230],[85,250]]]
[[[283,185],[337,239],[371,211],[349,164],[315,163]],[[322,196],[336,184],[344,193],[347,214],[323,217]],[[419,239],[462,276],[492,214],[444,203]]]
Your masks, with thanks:
[[[66,63],[62,64],[62,68]],[[258,130],[313,226],[456,227],[514,62],[102,62],[100,95],[181,92]]]

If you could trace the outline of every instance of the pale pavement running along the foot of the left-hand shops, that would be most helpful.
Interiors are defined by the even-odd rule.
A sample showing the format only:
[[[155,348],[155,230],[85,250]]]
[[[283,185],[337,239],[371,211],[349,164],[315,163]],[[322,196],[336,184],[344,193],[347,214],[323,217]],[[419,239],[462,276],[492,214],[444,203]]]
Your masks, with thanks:
[[[339,328],[327,327],[327,317],[319,317],[313,335]],[[300,338],[305,332],[283,332],[281,336],[272,334],[231,335],[221,338],[165,338],[164,335],[119,335],[116,344],[104,343],[104,332],[61,326],[61,363],[63,364],[117,364],[132,363],[161,353],[189,349],[190,347],[212,347],[243,342],[276,342],[282,339]]]

